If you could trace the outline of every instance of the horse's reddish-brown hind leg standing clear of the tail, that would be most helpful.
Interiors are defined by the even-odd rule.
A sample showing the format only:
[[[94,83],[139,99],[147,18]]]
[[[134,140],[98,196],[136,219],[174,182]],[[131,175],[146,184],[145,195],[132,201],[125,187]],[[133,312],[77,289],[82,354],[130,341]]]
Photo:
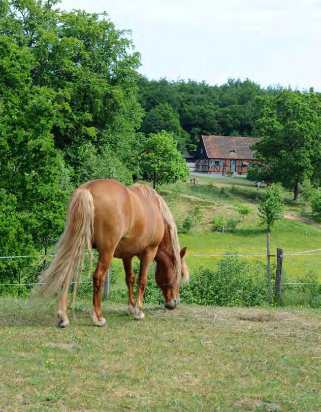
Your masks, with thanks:
[[[113,253],[99,253],[97,267],[93,273],[93,310],[92,322],[97,326],[105,326],[106,320],[103,318],[102,312],[102,288],[104,286],[106,272],[110,267],[113,259]]]

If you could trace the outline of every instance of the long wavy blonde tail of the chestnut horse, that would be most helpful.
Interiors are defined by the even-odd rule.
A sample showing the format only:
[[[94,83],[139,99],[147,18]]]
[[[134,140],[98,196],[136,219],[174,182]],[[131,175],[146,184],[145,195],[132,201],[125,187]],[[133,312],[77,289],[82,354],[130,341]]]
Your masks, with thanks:
[[[90,268],[92,263],[94,206],[88,189],[77,189],[69,202],[66,228],[53,247],[56,255],[50,266],[39,278],[40,286],[35,290],[31,300],[49,299],[56,293],[58,298],[68,291],[73,278],[75,288],[73,306],[75,304],[77,286],[84,265],[84,250],[87,247]]]

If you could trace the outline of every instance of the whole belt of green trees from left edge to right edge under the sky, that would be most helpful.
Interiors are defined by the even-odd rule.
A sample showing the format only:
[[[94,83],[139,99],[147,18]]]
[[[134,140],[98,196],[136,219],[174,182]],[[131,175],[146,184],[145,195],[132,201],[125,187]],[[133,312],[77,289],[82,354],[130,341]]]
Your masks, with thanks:
[[[262,136],[256,149],[274,180],[318,187],[320,93],[149,80],[129,32],[106,14],[57,3],[0,3],[1,256],[46,253],[85,181],[154,178],[156,186],[159,171],[165,181],[185,179],[176,145],[194,152],[200,134]]]

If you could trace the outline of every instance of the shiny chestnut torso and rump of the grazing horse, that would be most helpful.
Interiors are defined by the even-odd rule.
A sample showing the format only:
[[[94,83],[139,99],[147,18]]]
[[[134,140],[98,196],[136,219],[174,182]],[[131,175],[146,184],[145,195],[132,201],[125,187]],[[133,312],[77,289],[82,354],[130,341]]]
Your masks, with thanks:
[[[157,201],[113,179],[93,180],[88,189],[94,204],[94,246],[99,251],[115,248],[115,256],[136,255],[158,245],[164,236]]]

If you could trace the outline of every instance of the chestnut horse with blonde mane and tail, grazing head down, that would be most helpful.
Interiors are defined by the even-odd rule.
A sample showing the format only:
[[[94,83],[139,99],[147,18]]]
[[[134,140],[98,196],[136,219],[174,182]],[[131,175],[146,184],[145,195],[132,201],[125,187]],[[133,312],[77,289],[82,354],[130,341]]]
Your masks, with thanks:
[[[93,273],[92,321],[106,325],[101,308],[105,275],[113,257],[123,261],[128,287],[128,309],[134,319],[144,319],[142,300],[151,262],[156,262],[155,278],[162,289],[165,307],[179,303],[179,286],[188,281],[184,261],[186,247],[179,249],[177,229],[164,199],[148,185],[135,183],[130,188],[112,179],[87,182],[73,193],[67,209],[66,228],[54,249],[56,255],[40,277],[33,299],[58,295],[58,326],[69,325],[67,316],[68,288],[75,280],[73,303],[80,281],[87,247],[99,252]],[[134,256],[140,259],[138,292],[134,299]]]

